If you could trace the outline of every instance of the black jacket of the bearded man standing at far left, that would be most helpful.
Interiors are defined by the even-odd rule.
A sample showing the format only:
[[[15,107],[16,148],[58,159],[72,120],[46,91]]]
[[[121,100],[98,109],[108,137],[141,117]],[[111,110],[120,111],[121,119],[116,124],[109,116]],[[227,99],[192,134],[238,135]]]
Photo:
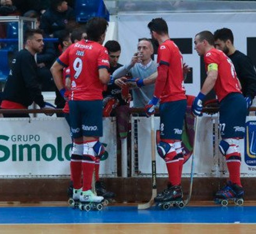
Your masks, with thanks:
[[[5,83],[3,100],[30,106],[33,101],[44,106],[44,98],[37,81],[35,58],[26,49],[20,50],[12,61],[10,74]]]

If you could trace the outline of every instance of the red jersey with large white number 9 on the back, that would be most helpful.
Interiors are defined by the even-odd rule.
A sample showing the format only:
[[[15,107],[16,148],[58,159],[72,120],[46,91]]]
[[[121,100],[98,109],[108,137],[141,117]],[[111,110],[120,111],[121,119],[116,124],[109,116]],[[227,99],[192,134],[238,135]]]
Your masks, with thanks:
[[[71,100],[102,100],[104,85],[99,80],[99,69],[109,69],[108,51],[97,42],[81,40],[70,45],[57,61],[70,67]]]

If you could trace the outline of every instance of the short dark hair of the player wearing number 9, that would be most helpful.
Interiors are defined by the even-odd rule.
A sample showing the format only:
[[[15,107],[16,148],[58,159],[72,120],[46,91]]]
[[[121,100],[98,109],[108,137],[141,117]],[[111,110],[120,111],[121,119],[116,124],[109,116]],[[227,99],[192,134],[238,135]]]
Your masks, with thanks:
[[[98,42],[105,33],[108,21],[102,17],[93,17],[86,24],[86,33],[88,40]]]

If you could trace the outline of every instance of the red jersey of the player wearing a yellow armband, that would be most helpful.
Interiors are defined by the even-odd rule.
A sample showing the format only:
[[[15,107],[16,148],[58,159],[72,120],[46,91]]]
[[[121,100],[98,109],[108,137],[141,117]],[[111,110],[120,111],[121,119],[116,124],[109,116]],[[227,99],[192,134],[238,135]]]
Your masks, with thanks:
[[[218,77],[214,85],[214,91],[219,102],[230,93],[242,93],[239,88],[235,67],[226,54],[213,48],[204,55],[204,61],[207,72],[209,64],[215,63],[218,65]]]

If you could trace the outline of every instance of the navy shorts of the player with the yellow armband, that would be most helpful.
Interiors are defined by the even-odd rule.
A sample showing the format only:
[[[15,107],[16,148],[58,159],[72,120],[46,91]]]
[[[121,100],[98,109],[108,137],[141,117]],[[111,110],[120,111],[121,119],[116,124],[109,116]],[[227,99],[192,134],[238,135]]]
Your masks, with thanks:
[[[247,106],[240,93],[228,94],[220,102],[219,129],[221,137],[244,138]]]

